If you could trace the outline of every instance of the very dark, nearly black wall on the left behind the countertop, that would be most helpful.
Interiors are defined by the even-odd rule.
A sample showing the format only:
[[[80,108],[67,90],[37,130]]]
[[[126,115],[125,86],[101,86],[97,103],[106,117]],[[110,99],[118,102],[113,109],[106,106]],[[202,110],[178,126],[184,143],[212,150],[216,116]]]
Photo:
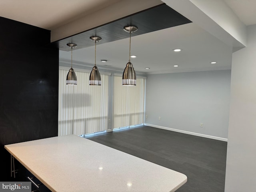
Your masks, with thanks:
[[[0,181],[8,181],[4,145],[58,135],[59,52],[49,30],[2,17],[0,26]]]

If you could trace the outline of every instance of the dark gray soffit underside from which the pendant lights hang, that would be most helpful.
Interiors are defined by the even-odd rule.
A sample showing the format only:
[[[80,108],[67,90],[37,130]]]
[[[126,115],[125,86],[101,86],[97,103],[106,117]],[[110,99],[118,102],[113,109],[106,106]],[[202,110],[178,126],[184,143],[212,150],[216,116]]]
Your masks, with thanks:
[[[70,51],[70,47],[67,46],[68,43],[75,43],[78,45],[76,48],[73,48],[73,50],[94,46],[95,43],[90,40],[90,36],[99,36],[102,38],[97,44],[129,38],[129,33],[123,30],[124,26],[127,25],[138,27],[138,31],[132,34],[132,36],[136,36],[190,22],[190,20],[166,4],[160,4],[102,26],[52,42],[51,45],[58,47],[59,50]]]

